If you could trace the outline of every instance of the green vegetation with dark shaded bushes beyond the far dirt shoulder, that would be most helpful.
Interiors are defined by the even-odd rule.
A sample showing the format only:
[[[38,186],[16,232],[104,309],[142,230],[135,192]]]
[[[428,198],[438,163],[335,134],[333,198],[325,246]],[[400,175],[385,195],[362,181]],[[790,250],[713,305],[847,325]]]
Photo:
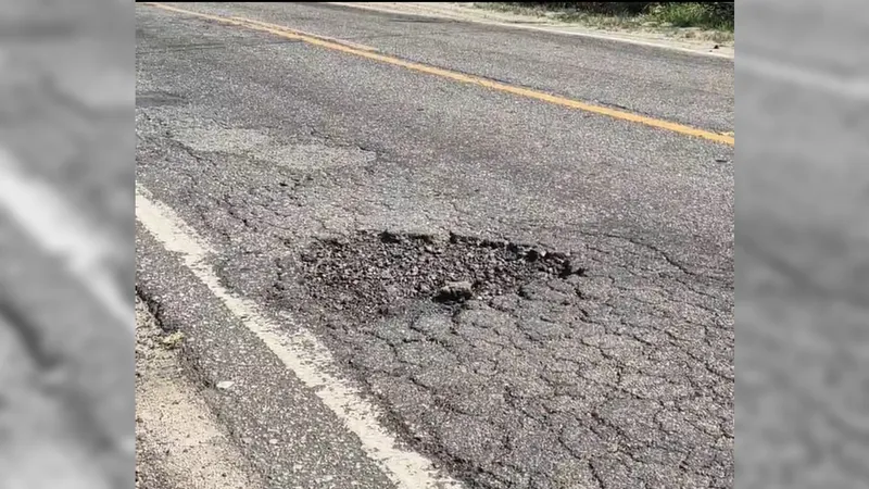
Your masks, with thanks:
[[[477,7],[578,22],[601,28],[694,28],[730,40],[733,2],[487,2]],[[689,35],[688,37],[693,37]]]

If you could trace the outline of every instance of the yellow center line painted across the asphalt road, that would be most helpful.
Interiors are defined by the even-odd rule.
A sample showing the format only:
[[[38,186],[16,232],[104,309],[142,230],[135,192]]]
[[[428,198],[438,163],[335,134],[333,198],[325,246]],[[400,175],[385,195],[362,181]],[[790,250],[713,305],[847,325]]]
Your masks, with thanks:
[[[219,22],[223,24],[229,24],[240,27],[247,27],[253,30],[260,30],[263,33],[273,34],[278,37],[284,37],[286,39],[294,39],[306,42],[308,45],[319,46],[323,48],[331,49],[335,51],[344,52],[348,54],[353,54],[361,58],[366,58],[368,60],[379,61],[381,63],[391,64],[394,66],[401,66],[406,70],[411,70],[418,73],[426,73],[429,75],[439,76],[441,78],[451,79],[453,82],[458,82],[467,85],[476,85],[479,87],[489,88],[492,90],[502,91],[505,93],[512,93],[519,97],[527,97],[529,99],[540,100],[543,102],[552,103],[555,105],[566,106],[570,109],[577,109],[585,112],[590,112],[593,114],[599,115],[606,115],[613,118],[617,118],[620,121],[628,121],[632,123],[643,124],[650,127],[655,127],[658,129],[670,130],[672,133],[681,134],[684,136],[692,136],[701,139],[706,139],[714,142],[719,142],[722,145],[728,146],[735,146],[735,139],[732,134],[718,134],[706,129],[700,129],[696,127],[687,126],[683,124],[678,124],[669,121],[663,121],[659,118],[648,117],[645,115],[634,114],[631,112],[619,111],[616,109],[610,109],[603,105],[594,105],[591,103],[580,102],[579,100],[572,100],[565,97],[559,97],[551,93],[546,93],[539,90],[532,90],[529,88],[517,87],[514,85],[507,85],[499,82],[493,82],[490,79],[486,79],[479,76],[474,75],[466,75],[458,72],[453,72],[450,70],[439,68],[436,66],[429,66],[423,63],[415,63],[412,61],[404,61],[399,58],[393,58],[390,55],[381,54],[379,52],[375,52],[375,48],[364,47],[364,46],[353,46],[349,42],[339,41],[332,38],[326,38],[319,35],[313,35],[307,33],[302,33],[289,27],[278,26],[275,24],[267,24],[260,21],[253,21],[250,18],[244,17],[224,17],[218,15],[211,15],[201,12],[193,12],[190,10],[179,9],[177,7],[166,5],[163,3],[153,3],[148,2],[148,5],[156,7],[163,10],[184,13],[188,15],[198,16],[201,18],[207,18],[210,21]]]

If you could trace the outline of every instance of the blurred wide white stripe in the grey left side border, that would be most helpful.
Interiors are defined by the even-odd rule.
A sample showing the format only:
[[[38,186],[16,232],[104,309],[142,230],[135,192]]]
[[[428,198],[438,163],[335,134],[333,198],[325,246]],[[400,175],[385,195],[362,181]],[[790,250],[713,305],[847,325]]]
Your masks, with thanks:
[[[56,190],[22,168],[10,151],[0,148],[0,210],[5,210],[48,253],[59,256],[100,305],[131,333],[129,301],[121,296],[106,266],[114,248],[111,239],[84,220]]]

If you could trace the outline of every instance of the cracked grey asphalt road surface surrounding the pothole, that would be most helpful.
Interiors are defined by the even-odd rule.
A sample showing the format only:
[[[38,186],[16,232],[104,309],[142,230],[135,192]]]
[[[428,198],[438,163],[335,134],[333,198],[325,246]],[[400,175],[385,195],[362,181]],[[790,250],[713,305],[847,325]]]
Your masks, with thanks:
[[[466,487],[732,487],[733,148],[358,52],[714,133],[733,130],[732,62],[328,5],[179,7],[357,45],[136,9],[137,183],[189,226],[139,227],[138,290],[188,334],[267,484],[402,482],[224,289],[328,347],[403,450]],[[214,283],[182,234],[214,249]],[[463,280],[469,297],[442,300]]]

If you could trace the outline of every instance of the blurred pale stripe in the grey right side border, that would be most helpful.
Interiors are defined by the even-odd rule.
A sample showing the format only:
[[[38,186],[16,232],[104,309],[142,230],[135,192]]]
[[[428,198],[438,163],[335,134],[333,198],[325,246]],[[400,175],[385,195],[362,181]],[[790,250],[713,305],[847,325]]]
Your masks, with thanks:
[[[860,102],[869,101],[869,79],[847,78],[805,68],[792,64],[783,64],[751,55],[740,54],[735,65],[736,74],[747,72],[776,82],[798,86],[809,90]]]

